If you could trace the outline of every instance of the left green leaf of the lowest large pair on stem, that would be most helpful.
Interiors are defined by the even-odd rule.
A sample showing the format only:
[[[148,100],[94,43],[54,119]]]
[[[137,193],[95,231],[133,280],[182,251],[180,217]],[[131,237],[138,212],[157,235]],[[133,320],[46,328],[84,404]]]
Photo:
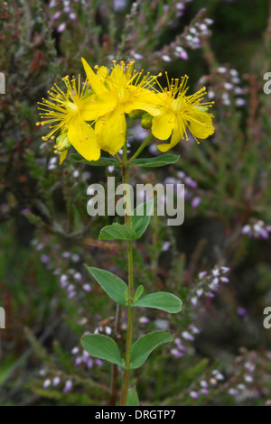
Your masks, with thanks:
[[[117,343],[113,338],[102,334],[88,334],[81,337],[81,345],[89,355],[125,368]]]

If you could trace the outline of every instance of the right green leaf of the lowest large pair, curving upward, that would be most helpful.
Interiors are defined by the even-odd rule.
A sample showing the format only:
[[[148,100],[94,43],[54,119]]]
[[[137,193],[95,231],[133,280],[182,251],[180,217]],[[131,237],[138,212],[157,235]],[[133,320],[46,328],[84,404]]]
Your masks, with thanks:
[[[173,334],[167,331],[154,331],[138,338],[131,349],[130,368],[135,370],[145,363],[147,357],[153,352],[155,347],[164,343],[172,342]]]

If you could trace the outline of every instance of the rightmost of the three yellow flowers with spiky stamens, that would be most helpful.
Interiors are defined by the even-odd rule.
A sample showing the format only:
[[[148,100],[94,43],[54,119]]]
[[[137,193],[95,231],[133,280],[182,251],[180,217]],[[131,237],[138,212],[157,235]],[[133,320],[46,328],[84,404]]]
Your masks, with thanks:
[[[211,118],[213,115],[208,113],[209,107],[213,102],[201,103],[202,97],[206,94],[205,88],[201,88],[192,96],[186,96],[188,90],[185,75],[181,79],[172,79],[169,81],[167,73],[168,87],[162,88],[157,96],[161,106],[161,115],[154,116],[152,132],[160,140],[167,140],[171,136],[170,143],[159,144],[157,147],[161,152],[167,152],[172,149],[181,139],[188,140],[187,128],[191,131],[193,137],[207,138],[214,133],[214,127]]]

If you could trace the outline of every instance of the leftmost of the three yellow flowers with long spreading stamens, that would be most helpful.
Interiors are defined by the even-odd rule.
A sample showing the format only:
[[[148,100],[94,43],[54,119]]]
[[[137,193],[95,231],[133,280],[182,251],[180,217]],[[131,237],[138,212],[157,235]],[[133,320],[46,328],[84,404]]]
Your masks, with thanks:
[[[85,121],[86,106],[89,104],[87,83],[84,82],[80,88],[80,77],[78,87],[75,78],[71,81],[69,77],[62,78],[65,82],[67,93],[64,93],[56,84],[49,91],[49,100],[42,98],[42,107],[39,109],[42,123],[37,125],[52,124],[51,131],[42,140],[54,138],[58,131],[65,134],[73,147],[87,160],[98,161],[100,148],[93,128]],[[56,145],[58,148],[58,144]],[[61,151],[61,161],[66,157],[67,150]]]

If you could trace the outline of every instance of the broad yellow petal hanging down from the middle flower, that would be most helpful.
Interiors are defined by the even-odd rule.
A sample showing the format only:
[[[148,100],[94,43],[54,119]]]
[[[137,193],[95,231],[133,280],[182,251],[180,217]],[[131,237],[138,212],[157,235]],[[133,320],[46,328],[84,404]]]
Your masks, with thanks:
[[[95,132],[98,133],[100,148],[110,154],[116,154],[126,141],[126,117],[122,108],[117,106],[113,112],[98,118]]]

